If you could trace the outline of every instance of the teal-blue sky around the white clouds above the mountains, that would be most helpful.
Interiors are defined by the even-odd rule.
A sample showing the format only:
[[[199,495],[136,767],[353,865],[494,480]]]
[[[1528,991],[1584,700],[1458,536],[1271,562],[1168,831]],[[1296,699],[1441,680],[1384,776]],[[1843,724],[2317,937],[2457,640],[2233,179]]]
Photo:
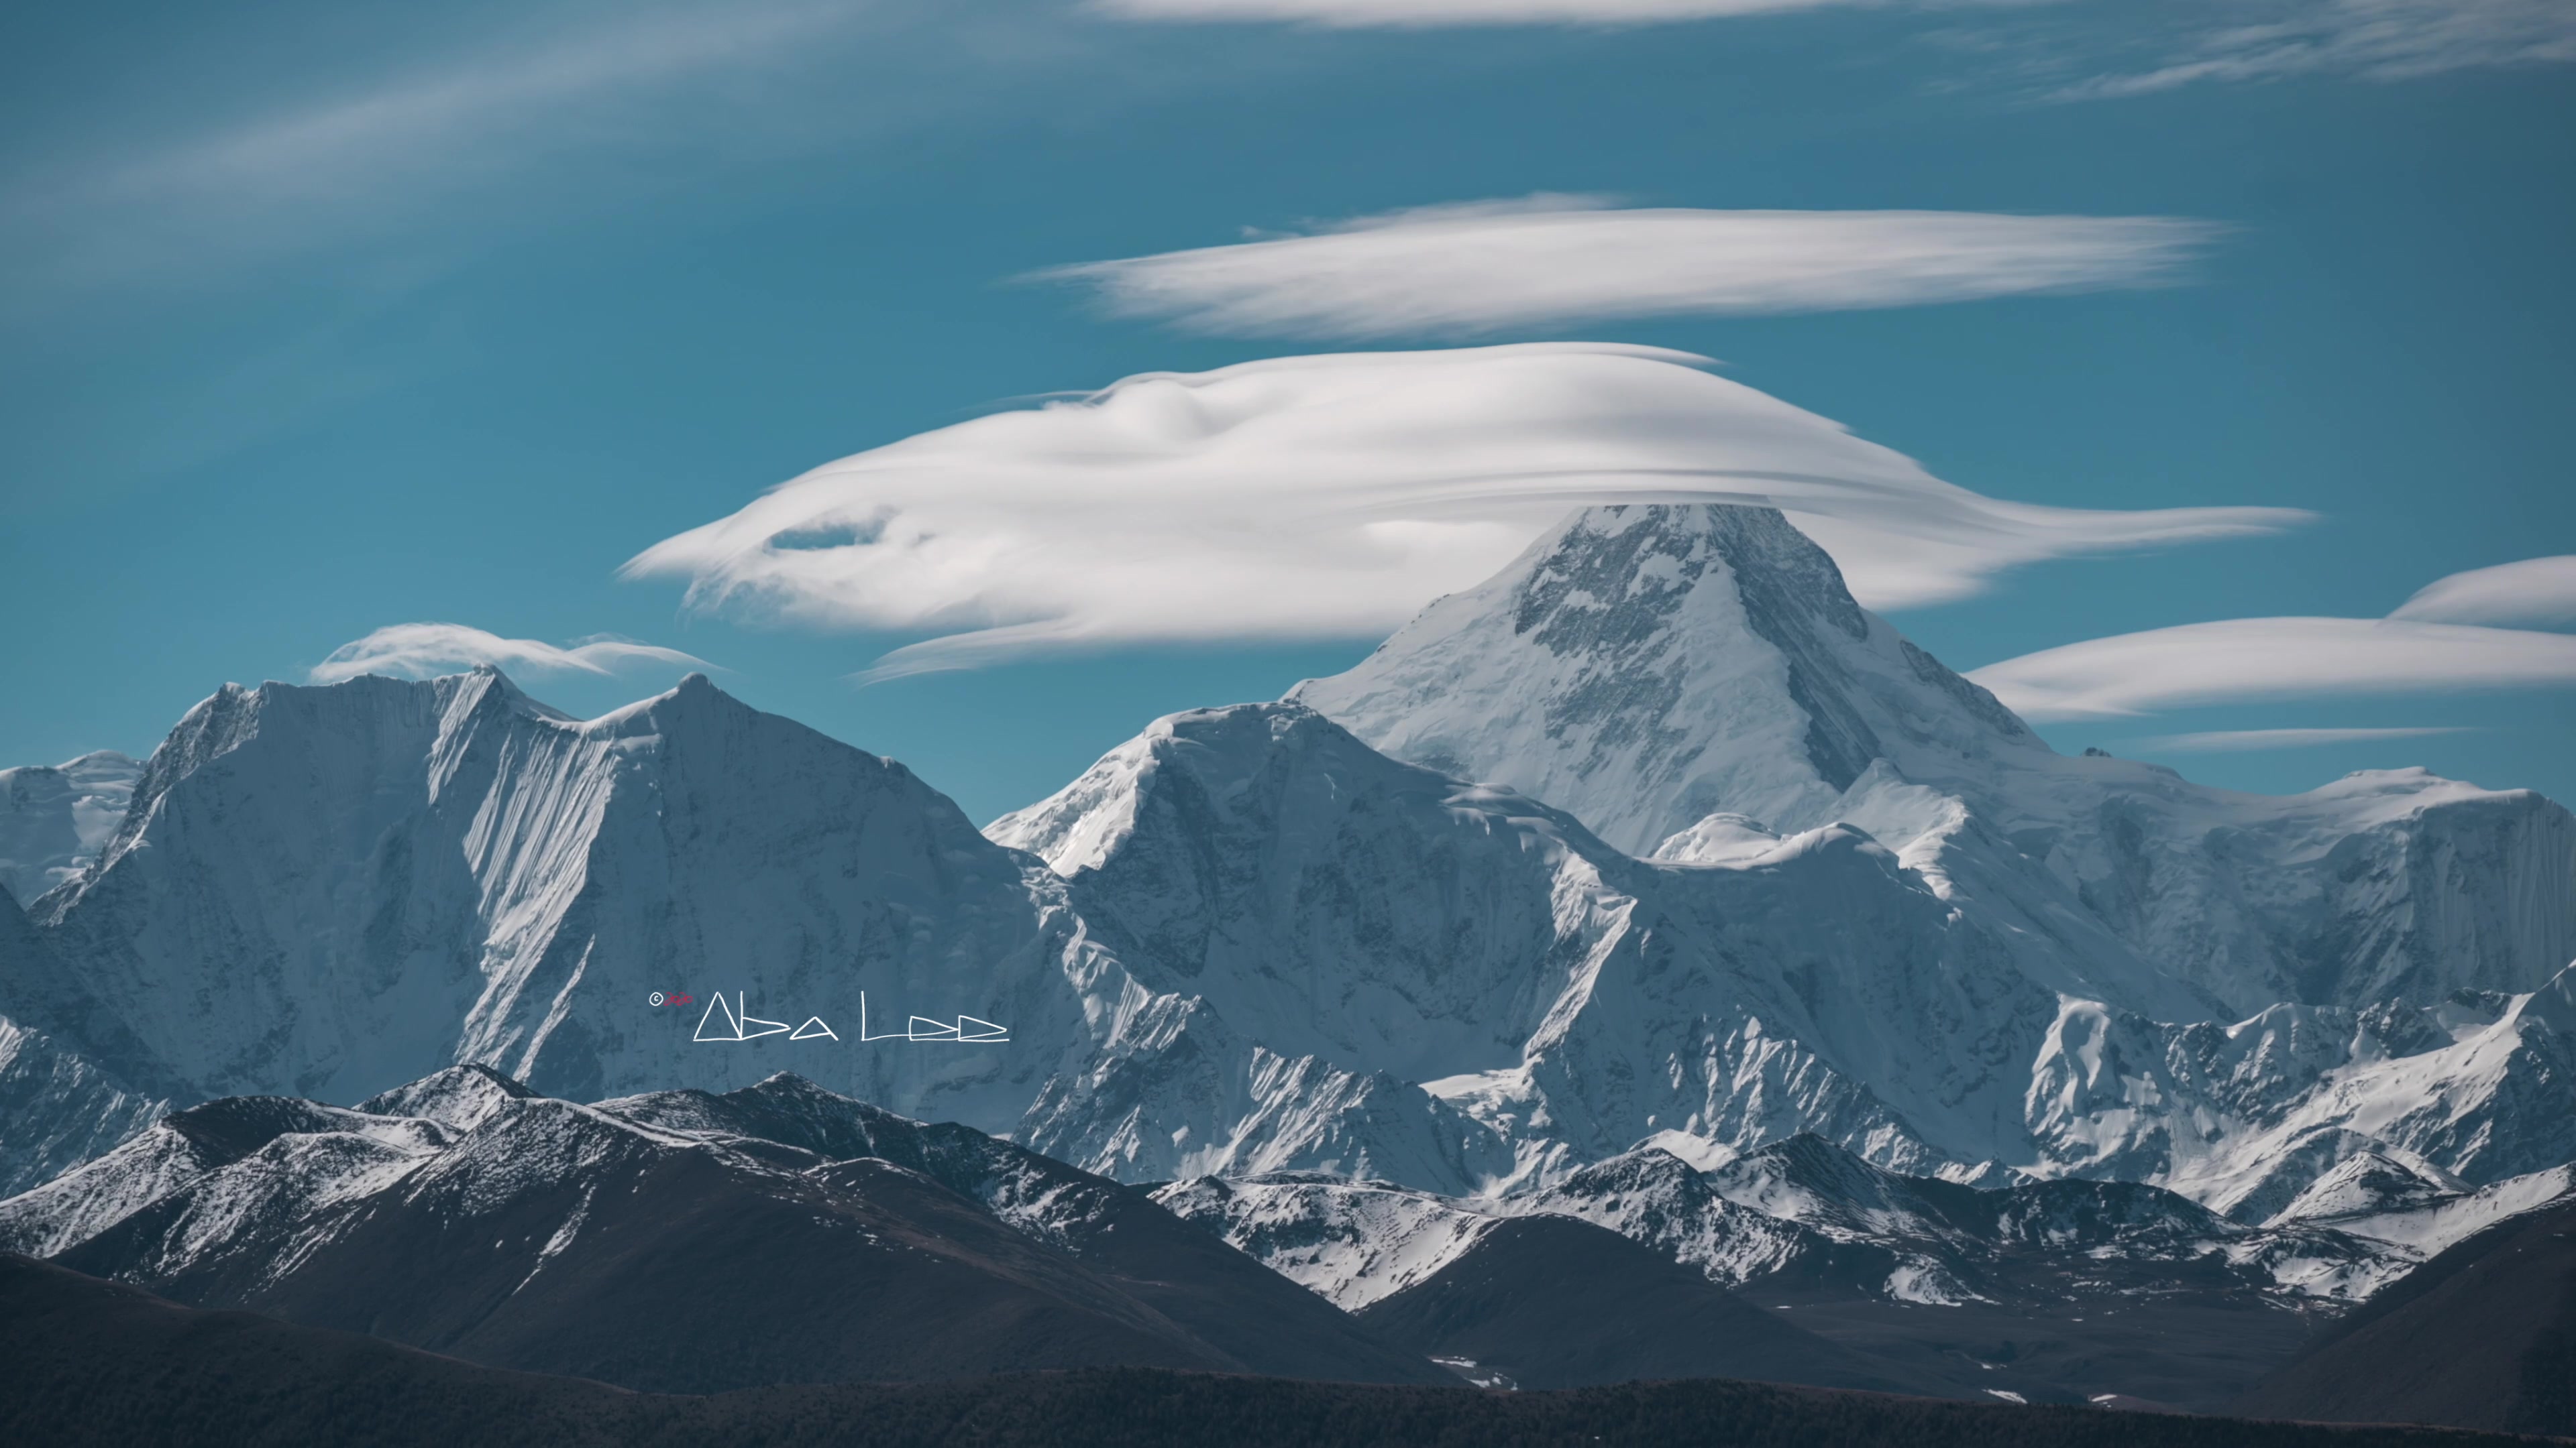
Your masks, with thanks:
[[[2563,5],[1597,23],[1636,5],[1551,0],[1543,23],[1463,23],[1492,21],[1489,3],[1504,0],[1378,13],[1412,26],[1337,26],[1350,13],[1327,0],[13,18],[0,763],[139,755],[224,680],[301,680],[376,629],[448,621],[685,649],[981,819],[1154,714],[1275,696],[1373,639],[1332,621],[1303,629],[1340,636],[1280,636],[1301,624],[1216,608],[1211,636],[1110,621],[1074,649],[860,688],[850,675],[956,624],[688,608],[675,577],[621,564],[804,469],[1036,394],[1342,348],[1677,348],[1991,500],[2316,515],[1994,567],[1968,598],[1888,608],[1963,670],[2184,624],[2380,618],[2445,575],[2576,554]],[[1365,299],[1342,322],[1247,325],[1190,299],[1121,312],[1097,278],[1028,281],[1530,196],[1587,198],[1553,206],[1613,227],[1638,211],[2205,227],[2159,265],[2136,240],[2084,240],[2110,271],[2045,294],[1860,304],[1834,301],[1837,273],[1788,309],[1692,309],[1636,283],[1649,296],[1479,322],[1479,289],[1455,299],[1466,312],[1370,335],[1347,319],[1383,314]],[[1221,260],[1278,255],[1303,252]],[[1582,258],[1546,265],[1553,286]],[[2576,624],[2545,605],[2458,618]],[[2439,667],[2458,654],[2439,636],[2290,698],[2259,649],[2213,654],[2195,672],[2221,683],[2197,696],[2045,732],[2244,788],[2421,763],[2576,799],[2566,670],[2532,654],[2512,688],[2460,685]],[[590,714],[677,665],[513,672]],[[2452,732],[2192,739],[2269,729]]]

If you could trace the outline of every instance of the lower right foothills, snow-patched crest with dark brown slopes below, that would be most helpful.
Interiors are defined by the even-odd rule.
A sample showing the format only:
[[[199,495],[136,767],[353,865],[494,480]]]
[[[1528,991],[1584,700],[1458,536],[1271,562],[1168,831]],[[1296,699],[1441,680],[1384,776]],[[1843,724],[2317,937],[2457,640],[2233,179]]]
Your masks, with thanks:
[[[2563,1177],[2416,1211],[2468,1221],[2530,1208],[2550,1183]],[[2311,1324],[2411,1270],[2421,1247],[2406,1237],[2442,1232],[2432,1219],[2380,1219],[2380,1237],[2300,1221],[2254,1229],[2138,1183],[1973,1188],[1886,1172],[1816,1136],[1708,1170],[1638,1147],[1504,1198],[1321,1175],[1193,1180],[1154,1196],[1360,1311],[1448,1273],[1510,1221],[1582,1219],[1788,1311],[1880,1373],[2192,1412],[2221,1409],[2287,1360]],[[1450,1348],[1440,1355],[1510,1376],[1492,1353]]]

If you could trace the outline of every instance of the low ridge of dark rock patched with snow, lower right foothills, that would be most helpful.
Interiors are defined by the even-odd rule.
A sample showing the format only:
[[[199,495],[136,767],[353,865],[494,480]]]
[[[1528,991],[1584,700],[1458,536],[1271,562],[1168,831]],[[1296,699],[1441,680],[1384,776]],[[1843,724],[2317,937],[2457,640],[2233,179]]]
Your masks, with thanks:
[[[2347,1221],[2241,1226],[2151,1185],[1971,1188],[1886,1172],[1816,1136],[1795,1136],[1708,1172],[1641,1147],[1502,1198],[1285,1172],[1182,1180],[1154,1201],[1345,1309],[1430,1278],[1497,1221],[1528,1214],[1607,1226],[1721,1286],[1785,1275],[1855,1296],[1955,1306],[2012,1301],[2035,1262],[2084,1270],[2125,1262],[2143,1268],[2146,1281],[2200,1262],[2197,1291],[2334,1309],[2367,1299],[2470,1229],[2563,1190],[2566,1172],[2545,1172],[2491,1193],[2450,1193],[2370,1219],[2375,1234]]]

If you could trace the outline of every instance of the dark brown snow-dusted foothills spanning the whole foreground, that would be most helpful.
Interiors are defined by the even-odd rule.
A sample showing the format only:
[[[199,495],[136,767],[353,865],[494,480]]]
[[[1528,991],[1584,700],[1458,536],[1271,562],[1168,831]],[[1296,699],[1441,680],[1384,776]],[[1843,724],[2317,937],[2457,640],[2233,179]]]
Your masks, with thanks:
[[[1311,1172],[1146,1196],[791,1074],[574,1105],[448,1067],[358,1108],[173,1113],[0,1203],[0,1252],[662,1391],[1445,1363],[2215,1409],[2316,1317],[2576,1201],[2566,1170],[2460,1193],[2365,1159],[2321,1188],[2318,1221],[2249,1229],[2151,1185],[1973,1188],[1795,1136],[1716,1170],[1643,1147],[1510,1198]]]

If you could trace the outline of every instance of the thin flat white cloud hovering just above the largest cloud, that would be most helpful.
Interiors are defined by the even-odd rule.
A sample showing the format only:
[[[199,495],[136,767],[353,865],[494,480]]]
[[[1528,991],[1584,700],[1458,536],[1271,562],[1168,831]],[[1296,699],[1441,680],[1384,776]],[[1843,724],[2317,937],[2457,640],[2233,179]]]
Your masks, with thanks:
[[[1360,216],[1038,273],[1203,332],[1453,338],[1577,319],[1837,312],[2177,281],[2218,234],[2174,216],[1610,209],[1530,196]]]

